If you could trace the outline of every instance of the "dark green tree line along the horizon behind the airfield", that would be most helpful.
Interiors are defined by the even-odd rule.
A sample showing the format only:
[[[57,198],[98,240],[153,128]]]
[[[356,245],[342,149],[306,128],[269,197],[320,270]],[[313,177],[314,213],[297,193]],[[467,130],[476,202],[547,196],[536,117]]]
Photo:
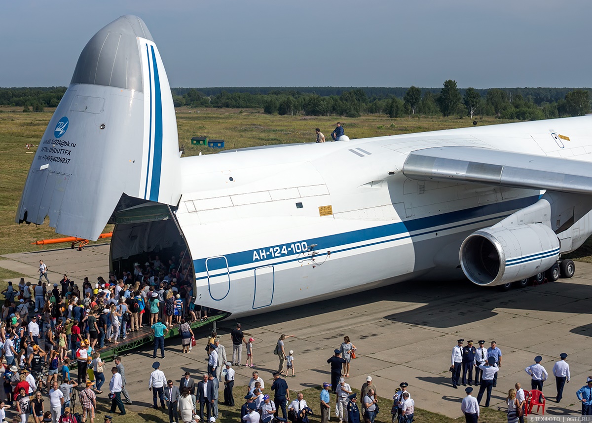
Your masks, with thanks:
[[[0,105],[43,111],[56,107],[66,87],[0,88]],[[233,87],[172,88],[175,107],[259,108],[264,113],[358,117],[361,114],[496,116],[540,120],[590,113],[590,88]]]

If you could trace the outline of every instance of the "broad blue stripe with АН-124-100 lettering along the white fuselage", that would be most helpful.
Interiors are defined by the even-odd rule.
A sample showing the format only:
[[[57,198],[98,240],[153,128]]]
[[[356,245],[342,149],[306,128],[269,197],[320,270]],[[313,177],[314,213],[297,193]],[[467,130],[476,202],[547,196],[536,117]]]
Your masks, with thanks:
[[[525,198],[517,198],[516,200],[504,201],[502,203],[494,203],[494,204],[487,204],[486,206],[478,206],[478,207],[471,207],[470,209],[464,210],[457,210],[457,211],[450,211],[448,213],[437,214],[436,216],[427,216],[427,217],[419,217],[417,219],[410,219],[404,222],[397,222],[397,223],[389,223],[388,225],[381,225],[381,226],[374,226],[369,227],[366,229],[358,229],[352,230],[350,232],[343,232],[343,233],[336,233],[334,235],[326,235],[321,236],[320,238],[311,238],[311,239],[300,239],[297,242],[306,242],[308,245],[317,244],[318,247],[316,251],[320,249],[323,250],[330,250],[332,254],[340,251],[348,251],[350,249],[356,248],[363,248],[366,246],[377,245],[379,243],[385,242],[392,242],[397,241],[399,239],[404,238],[411,238],[414,236],[426,235],[427,233],[437,232],[438,230],[446,230],[446,229],[453,229],[455,227],[465,226],[465,225],[472,225],[474,223],[484,222],[490,219],[494,219],[492,217],[495,214],[504,213],[510,210],[517,210],[523,209],[524,207],[530,206],[531,204],[535,203],[539,200],[539,196],[531,196]],[[464,222],[465,220],[473,220],[482,217],[483,219],[472,221],[472,222]],[[456,223],[456,225],[453,225]],[[438,228],[436,227],[443,226],[443,225],[453,225],[450,227]],[[413,233],[418,232],[420,233]],[[412,232],[408,235],[409,232]],[[387,236],[398,236],[398,238],[390,238],[386,240],[380,240],[380,238],[385,238]],[[368,243],[368,241],[371,241]],[[339,250],[334,250],[336,246],[343,246],[352,243],[359,243],[359,242],[366,242],[363,245],[352,246],[349,248],[342,248]],[[289,244],[291,242],[286,242],[284,245]],[[296,243],[296,242],[294,242]],[[269,251],[270,248],[274,248],[278,245],[274,246],[266,246],[265,248],[253,248],[249,251],[240,251],[234,252],[231,254],[227,254],[226,257],[229,268],[234,268],[246,264],[255,264],[255,267],[260,267],[263,262],[266,265],[269,264],[282,264],[290,261],[294,261],[300,258],[299,253],[282,255],[282,257],[266,257],[265,259],[260,259],[257,261],[253,261],[253,251],[265,250]],[[281,247],[281,245],[280,245]],[[317,254],[317,257],[320,257],[324,254]],[[292,258],[290,258],[292,256]],[[272,260],[273,263],[270,263]],[[206,258],[195,259],[194,270],[195,273],[202,273],[205,272],[205,260]],[[237,271],[245,271],[247,269],[241,270],[234,270],[230,271],[230,273],[235,273]],[[196,280],[205,279],[207,276],[198,277]]]

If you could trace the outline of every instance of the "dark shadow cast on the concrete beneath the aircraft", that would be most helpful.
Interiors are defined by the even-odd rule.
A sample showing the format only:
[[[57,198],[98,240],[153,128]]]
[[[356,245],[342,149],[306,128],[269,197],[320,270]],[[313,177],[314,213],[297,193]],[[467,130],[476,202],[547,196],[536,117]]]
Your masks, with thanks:
[[[592,286],[570,283],[569,279],[509,291],[500,291],[498,287],[479,287],[466,279],[410,281],[281,312],[251,316],[249,326],[288,322],[351,307],[362,306],[362,310],[356,311],[363,313],[363,306],[372,308],[375,302],[390,301],[393,303],[392,313],[385,315],[385,319],[439,329],[491,318],[498,314],[495,311],[498,308],[509,309],[510,313],[512,309],[519,310],[522,314],[524,310],[590,314],[589,325],[579,326],[571,332],[592,337],[591,299]],[[410,309],[410,304],[417,307]],[[218,323],[221,327],[233,328],[234,325],[233,321]]]

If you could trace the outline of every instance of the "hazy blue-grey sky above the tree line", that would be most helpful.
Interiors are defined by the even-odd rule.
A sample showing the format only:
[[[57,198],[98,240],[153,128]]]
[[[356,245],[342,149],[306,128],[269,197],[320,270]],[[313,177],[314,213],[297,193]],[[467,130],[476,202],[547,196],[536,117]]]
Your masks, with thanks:
[[[590,0],[5,1],[0,86],[67,86],[125,14],[171,86],[592,86]]]

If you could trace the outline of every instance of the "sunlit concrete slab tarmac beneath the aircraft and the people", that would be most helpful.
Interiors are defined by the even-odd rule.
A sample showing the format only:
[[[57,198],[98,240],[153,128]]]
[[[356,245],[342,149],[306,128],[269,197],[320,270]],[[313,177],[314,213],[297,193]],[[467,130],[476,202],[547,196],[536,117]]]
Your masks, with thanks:
[[[34,282],[38,279],[39,259],[43,259],[52,283],[59,281],[63,273],[80,282],[88,276],[94,282],[98,275],[107,278],[108,248],[96,245],[82,252],[66,248],[8,254],[0,267],[30,275]],[[592,375],[591,281],[592,264],[577,262],[573,278],[521,290],[501,292],[468,281],[403,283],[284,312],[255,315],[240,323],[245,337],[255,338],[253,370],[258,370],[265,380],[266,392],[271,372],[278,367],[272,351],[280,334],[294,335],[285,342],[286,350],[294,350],[295,357],[296,376],[287,378],[291,390],[330,382],[326,360],[348,335],[359,357],[351,364],[348,383],[353,387],[359,389],[370,374],[378,395],[392,398],[395,387],[407,382],[417,407],[456,418],[461,416],[460,403],[465,393],[462,385],[452,388],[448,372],[452,347],[459,338],[472,339],[475,347],[479,339],[485,339],[488,343],[497,341],[503,353],[492,408],[506,409],[505,398],[514,383],[530,389],[530,376],[524,369],[534,364],[536,355],[542,355],[541,364],[549,373],[543,387],[545,415],[579,415],[581,407],[575,391],[584,386],[586,376]],[[229,332],[234,325],[233,320],[218,323],[229,360]],[[207,368],[205,335],[205,331],[196,333],[198,345],[189,354],[181,354],[181,339],[168,342],[166,358],[157,358],[168,378],[178,382],[185,371],[190,371],[196,382],[200,380]],[[561,353],[568,354],[571,382],[566,384],[564,399],[558,404],[552,368]],[[245,360],[243,348],[243,364]],[[123,357],[127,388],[134,402],[129,407],[136,411],[152,405],[147,384],[153,361],[150,346]],[[252,369],[242,366],[235,370],[235,386],[246,385]],[[475,396],[477,391],[478,387]],[[240,394],[235,390],[234,397],[242,398]],[[317,398],[307,400],[317,405]],[[240,399],[238,403],[242,403]]]

